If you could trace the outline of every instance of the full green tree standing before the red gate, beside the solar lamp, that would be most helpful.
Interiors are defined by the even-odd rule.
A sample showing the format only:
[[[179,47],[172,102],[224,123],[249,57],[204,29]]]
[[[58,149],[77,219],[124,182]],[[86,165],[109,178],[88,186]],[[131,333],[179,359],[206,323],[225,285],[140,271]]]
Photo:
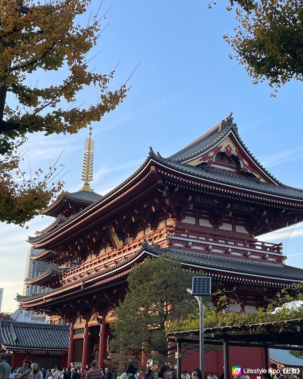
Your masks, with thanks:
[[[193,274],[182,268],[169,255],[147,258],[135,266],[128,276],[128,290],[115,310],[116,321],[111,324],[113,353],[132,355],[141,351],[158,363],[165,362],[168,347],[165,330],[169,322],[192,312],[194,299],[186,292]]]

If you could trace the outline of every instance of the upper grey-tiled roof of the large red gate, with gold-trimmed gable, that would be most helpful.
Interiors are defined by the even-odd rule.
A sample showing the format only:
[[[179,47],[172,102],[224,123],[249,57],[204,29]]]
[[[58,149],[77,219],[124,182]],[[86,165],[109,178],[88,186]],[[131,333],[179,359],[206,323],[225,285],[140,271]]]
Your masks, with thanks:
[[[208,158],[211,159],[214,154],[225,152],[226,149],[241,157],[240,164],[246,171],[221,170],[217,169],[216,165],[208,164]],[[53,241],[59,240],[59,238],[65,239],[67,230],[69,230],[68,235],[78,232],[81,225],[82,228],[87,227],[90,222],[95,221],[105,212],[109,212],[110,208],[117,203],[120,205],[125,202],[125,198],[129,199],[131,196],[142,193],[144,189],[150,188],[151,183],[156,183],[158,180],[154,175],[155,170],[158,171],[158,175],[166,176],[171,181],[186,183],[187,186],[192,184],[200,188],[211,188],[221,193],[229,193],[232,196],[243,197],[244,194],[246,198],[255,198],[258,201],[265,200],[272,204],[282,203],[286,206],[303,207],[303,189],[282,184],[252,156],[241,140],[238,128],[230,115],[215,128],[168,158],[162,157],[159,153],[156,154],[150,148],[149,155],[142,165],[112,191],[103,197],[97,195],[99,199],[96,202],[90,203],[54,229],[35,237],[29,237],[28,241],[35,248],[56,246]],[[63,196],[74,194],[66,193]],[[88,192],[85,196],[90,196],[89,194],[92,193]],[[62,199],[64,198],[60,198],[57,204],[60,201],[63,203]],[[56,202],[47,209],[51,210],[55,204]],[[298,219],[296,222],[299,221],[301,220]],[[273,230],[277,228],[278,226],[273,226]],[[39,257],[42,258],[45,254],[41,253]],[[39,257],[37,259],[40,259]]]

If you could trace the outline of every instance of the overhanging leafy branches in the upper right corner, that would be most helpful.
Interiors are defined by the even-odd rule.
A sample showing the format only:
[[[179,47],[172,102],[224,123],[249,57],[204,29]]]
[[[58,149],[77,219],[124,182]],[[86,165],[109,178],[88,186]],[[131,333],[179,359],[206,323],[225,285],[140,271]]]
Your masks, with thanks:
[[[235,35],[224,38],[254,84],[268,80],[274,89],[291,79],[303,81],[303,9],[299,0],[241,0]],[[231,9],[228,8],[229,10]]]

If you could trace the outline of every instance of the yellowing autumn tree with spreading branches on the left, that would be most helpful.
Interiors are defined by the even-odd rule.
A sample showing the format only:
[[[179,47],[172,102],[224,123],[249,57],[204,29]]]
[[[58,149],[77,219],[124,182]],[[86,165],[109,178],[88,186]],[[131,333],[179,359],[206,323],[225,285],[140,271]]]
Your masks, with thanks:
[[[79,24],[89,4],[90,0],[52,0],[43,5],[34,0],[0,0],[0,172],[4,173],[0,221],[22,225],[60,189],[49,185],[54,172],[39,180],[38,171],[28,179],[19,169],[16,148],[27,133],[76,133],[114,110],[126,96],[125,84],[109,88],[114,71],[100,74],[89,69],[86,55],[96,44],[102,19],[95,15],[85,26]],[[67,74],[59,84],[26,84],[37,81],[37,70]],[[94,105],[86,108],[75,106],[77,94],[89,85],[99,88],[99,98],[90,99]]]

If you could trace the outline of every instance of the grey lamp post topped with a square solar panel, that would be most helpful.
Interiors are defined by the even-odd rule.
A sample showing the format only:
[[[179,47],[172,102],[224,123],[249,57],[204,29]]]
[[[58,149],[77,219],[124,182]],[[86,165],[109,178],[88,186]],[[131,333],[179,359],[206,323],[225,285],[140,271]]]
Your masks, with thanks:
[[[203,297],[211,295],[211,278],[206,276],[194,276],[191,289],[186,291],[197,299],[200,310],[200,370],[204,379],[204,305]]]

